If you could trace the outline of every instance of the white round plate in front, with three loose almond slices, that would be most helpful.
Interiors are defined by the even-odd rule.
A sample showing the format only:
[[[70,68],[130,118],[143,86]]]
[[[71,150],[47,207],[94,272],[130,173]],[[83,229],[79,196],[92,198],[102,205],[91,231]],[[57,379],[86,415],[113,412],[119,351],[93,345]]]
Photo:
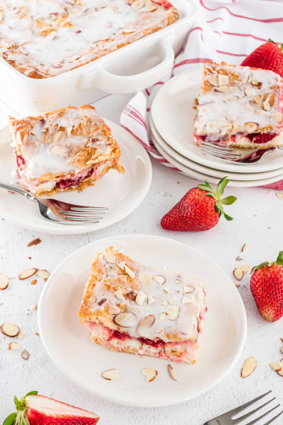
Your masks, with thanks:
[[[140,263],[167,266],[198,276],[207,293],[207,313],[195,365],[110,351],[91,342],[90,331],[77,316],[92,257],[108,245],[123,249]],[[174,252],[174,255],[172,255]],[[205,264],[205,267],[204,267]],[[247,318],[241,296],[214,261],[191,246],[153,235],[119,235],[78,249],[50,275],[39,300],[39,333],[45,348],[67,377],[98,396],[123,405],[168,406],[198,397],[213,388],[235,366],[244,347]],[[141,374],[153,367],[158,376],[147,382]],[[117,368],[120,377],[104,380],[101,373]]]

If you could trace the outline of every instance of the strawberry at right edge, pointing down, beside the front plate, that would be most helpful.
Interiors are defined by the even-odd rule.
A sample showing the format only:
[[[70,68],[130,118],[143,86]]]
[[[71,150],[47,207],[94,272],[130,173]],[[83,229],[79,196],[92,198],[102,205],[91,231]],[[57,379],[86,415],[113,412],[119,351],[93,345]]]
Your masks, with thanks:
[[[283,251],[275,263],[261,263],[251,271],[250,287],[264,320],[275,322],[283,316]]]

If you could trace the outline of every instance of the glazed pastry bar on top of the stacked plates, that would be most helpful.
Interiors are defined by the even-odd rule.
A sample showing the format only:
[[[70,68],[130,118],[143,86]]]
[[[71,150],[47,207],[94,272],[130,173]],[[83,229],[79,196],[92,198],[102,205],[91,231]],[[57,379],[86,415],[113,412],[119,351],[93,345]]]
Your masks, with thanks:
[[[283,80],[273,71],[206,62],[194,141],[266,149],[283,131]]]

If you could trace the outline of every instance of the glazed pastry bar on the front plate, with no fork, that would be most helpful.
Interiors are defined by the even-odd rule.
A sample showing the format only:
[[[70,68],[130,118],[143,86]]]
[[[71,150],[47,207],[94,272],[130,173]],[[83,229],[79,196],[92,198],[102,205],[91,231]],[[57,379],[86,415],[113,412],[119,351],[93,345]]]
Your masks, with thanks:
[[[95,254],[78,316],[111,350],[195,363],[206,311],[198,278],[144,266],[111,246]]]

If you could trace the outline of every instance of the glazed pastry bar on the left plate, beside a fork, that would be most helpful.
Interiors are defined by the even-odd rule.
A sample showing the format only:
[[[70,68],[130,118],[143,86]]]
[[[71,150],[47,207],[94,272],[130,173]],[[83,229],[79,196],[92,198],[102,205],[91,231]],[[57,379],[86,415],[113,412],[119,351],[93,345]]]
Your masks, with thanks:
[[[124,172],[120,147],[93,106],[10,117],[10,125],[18,176],[37,196],[82,191],[111,168]]]

